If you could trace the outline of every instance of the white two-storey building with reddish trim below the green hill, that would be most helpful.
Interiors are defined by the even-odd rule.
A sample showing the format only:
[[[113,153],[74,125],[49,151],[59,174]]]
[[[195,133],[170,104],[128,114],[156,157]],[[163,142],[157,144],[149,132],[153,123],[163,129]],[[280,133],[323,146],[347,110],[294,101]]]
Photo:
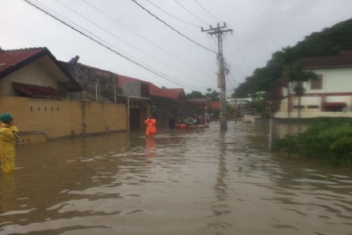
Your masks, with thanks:
[[[352,50],[339,56],[306,57],[302,62],[304,70],[318,74],[319,79],[303,83],[306,91],[301,98],[301,117],[352,117]],[[290,82],[289,94],[283,87],[284,98],[274,117],[298,116],[295,86],[296,82]]]

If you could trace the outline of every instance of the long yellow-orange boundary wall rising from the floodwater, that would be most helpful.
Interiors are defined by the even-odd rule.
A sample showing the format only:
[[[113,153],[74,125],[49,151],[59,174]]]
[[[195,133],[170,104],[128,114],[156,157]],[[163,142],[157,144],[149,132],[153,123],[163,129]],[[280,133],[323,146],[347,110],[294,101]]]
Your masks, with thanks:
[[[126,130],[126,104],[121,103],[1,97],[0,112],[10,112],[20,132],[40,132],[25,134],[26,138],[46,135],[52,139]]]

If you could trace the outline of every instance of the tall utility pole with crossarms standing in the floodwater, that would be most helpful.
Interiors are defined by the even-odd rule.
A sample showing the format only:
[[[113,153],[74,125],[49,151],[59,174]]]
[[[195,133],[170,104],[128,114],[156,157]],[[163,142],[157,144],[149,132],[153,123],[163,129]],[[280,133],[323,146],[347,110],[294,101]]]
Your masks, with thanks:
[[[226,81],[225,81],[225,65],[224,65],[224,57],[222,56],[222,39],[224,39],[226,32],[231,32],[232,29],[225,29],[226,23],[224,22],[224,26],[220,27],[218,23],[218,27],[213,28],[210,25],[210,29],[203,30],[202,32],[208,32],[209,35],[215,35],[218,38],[218,65],[219,65],[219,73],[218,73],[218,87],[220,88],[220,129],[227,129],[227,120],[226,120]]]

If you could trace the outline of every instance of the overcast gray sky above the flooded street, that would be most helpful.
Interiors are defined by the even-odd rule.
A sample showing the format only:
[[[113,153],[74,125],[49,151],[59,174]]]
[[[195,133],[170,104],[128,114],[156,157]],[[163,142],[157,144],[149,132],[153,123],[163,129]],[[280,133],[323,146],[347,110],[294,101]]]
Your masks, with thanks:
[[[213,89],[217,87],[216,55],[170,30],[132,0],[84,0],[113,17],[115,21],[83,0],[30,1],[56,11],[56,15],[60,14],[89,30],[108,42],[109,47],[115,47],[114,49],[120,50],[119,52],[123,51],[122,54],[133,57],[133,60],[139,60],[159,72],[182,81],[186,93],[190,92],[189,88],[205,92],[206,87]],[[205,21],[215,26],[218,20],[194,0],[177,1],[202,21],[184,10],[175,0],[136,1],[184,35],[209,49],[217,50],[216,39],[202,33],[200,27],[172,18],[150,3],[188,23],[208,28],[209,26],[202,22]],[[255,68],[265,66],[273,52],[287,45],[295,45],[311,32],[321,31],[325,27],[351,18],[352,9],[351,0],[197,0],[197,2],[234,30],[233,36],[228,34],[224,39],[224,57],[237,83],[243,82],[245,75],[251,75]],[[157,86],[180,87],[103,48],[22,0],[0,0],[0,6],[2,49],[47,47],[58,60],[68,61],[71,57],[79,55],[79,62],[93,67],[150,81]],[[229,91],[235,86],[234,82],[230,81],[232,84],[227,81]],[[228,95],[230,93],[228,92]]]

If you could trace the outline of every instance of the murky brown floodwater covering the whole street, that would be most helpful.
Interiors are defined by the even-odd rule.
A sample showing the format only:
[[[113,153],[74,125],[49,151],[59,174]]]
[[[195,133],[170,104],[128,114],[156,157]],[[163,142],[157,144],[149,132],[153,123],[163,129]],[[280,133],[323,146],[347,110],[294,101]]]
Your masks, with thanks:
[[[273,154],[268,134],[213,122],[19,146],[0,234],[352,234],[351,169]]]

